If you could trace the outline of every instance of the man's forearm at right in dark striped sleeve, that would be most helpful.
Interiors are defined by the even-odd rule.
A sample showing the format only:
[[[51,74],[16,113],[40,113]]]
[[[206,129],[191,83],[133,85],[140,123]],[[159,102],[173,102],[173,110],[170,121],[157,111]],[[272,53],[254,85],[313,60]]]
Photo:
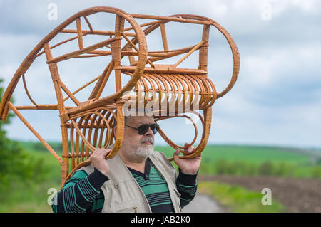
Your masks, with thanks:
[[[176,179],[176,186],[180,193],[180,206],[183,208],[195,197],[198,188],[198,183],[196,181],[197,174],[183,174],[180,169],[178,169],[178,171],[179,174]]]

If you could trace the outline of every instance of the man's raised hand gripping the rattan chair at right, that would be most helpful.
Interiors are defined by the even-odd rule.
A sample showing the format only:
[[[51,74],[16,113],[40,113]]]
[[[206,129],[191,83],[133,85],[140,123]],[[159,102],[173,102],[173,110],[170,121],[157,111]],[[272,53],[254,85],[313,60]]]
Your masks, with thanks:
[[[189,144],[185,143],[185,147],[187,147]],[[190,154],[193,151],[194,147],[188,147],[187,149],[184,149],[184,152],[187,152],[187,154]],[[177,149],[174,154],[174,162],[178,165],[180,170],[183,172],[183,174],[197,174],[198,168],[200,167],[200,159],[202,154],[193,157],[191,159],[181,159],[178,155],[180,154],[180,149]],[[187,155],[184,154],[184,155]]]

